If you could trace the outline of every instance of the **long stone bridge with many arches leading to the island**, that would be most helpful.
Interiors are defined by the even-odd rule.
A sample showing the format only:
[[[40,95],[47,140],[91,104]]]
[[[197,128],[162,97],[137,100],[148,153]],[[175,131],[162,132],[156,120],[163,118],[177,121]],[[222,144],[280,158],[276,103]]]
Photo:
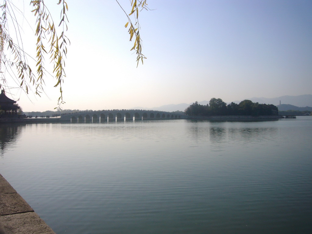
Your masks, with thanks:
[[[187,115],[158,110],[92,110],[61,115],[61,120],[71,123],[104,123],[126,120],[187,119]]]

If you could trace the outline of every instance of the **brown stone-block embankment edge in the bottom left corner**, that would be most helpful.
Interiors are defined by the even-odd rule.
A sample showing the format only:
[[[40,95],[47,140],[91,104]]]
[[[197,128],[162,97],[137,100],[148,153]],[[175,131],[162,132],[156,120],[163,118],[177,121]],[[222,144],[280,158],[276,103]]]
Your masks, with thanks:
[[[0,234],[55,234],[0,174]]]

